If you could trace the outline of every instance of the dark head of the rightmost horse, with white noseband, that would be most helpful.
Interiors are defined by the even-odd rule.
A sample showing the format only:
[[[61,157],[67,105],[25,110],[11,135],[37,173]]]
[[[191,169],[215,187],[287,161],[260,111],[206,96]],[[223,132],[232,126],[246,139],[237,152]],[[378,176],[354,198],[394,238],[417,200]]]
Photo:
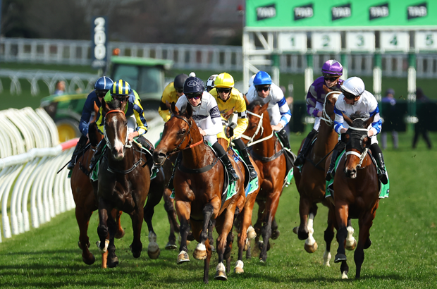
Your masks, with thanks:
[[[346,144],[345,174],[347,178],[356,178],[357,166],[361,166],[371,144],[367,133],[369,125],[374,121],[374,116],[367,118],[357,112],[350,118],[343,113],[343,118],[349,125],[347,132],[341,135],[342,142]]]

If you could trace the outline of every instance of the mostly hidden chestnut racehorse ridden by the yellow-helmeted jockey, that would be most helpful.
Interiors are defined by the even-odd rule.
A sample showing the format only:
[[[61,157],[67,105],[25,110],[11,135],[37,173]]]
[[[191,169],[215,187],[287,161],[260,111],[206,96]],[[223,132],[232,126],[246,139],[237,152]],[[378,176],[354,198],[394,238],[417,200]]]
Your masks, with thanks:
[[[233,113],[233,109],[230,111],[227,111],[226,113],[221,113],[223,118],[228,120],[230,116]],[[230,139],[230,128],[226,127],[226,137]],[[223,149],[227,150],[228,154],[235,157],[235,152],[230,149],[230,143],[225,138],[219,137],[218,140],[219,144],[223,147]],[[251,156],[249,156],[250,161],[252,164],[254,164],[254,161]],[[244,165],[242,162],[238,162],[238,166],[240,168],[240,171],[245,171]],[[255,171],[257,172],[257,175],[259,176],[259,169],[258,166],[254,166]],[[245,178],[250,178],[249,174],[245,174]],[[259,183],[259,182],[258,182]],[[254,208],[255,200],[257,199],[257,195],[259,192],[260,187],[258,186],[257,190],[254,190],[252,193],[246,196],[246,202],[244,204],[244,207],[240,208],[238,207],[238,211],[240,213],[238,214],[237,220],[235,221],[235,227],[238,231],[238,260],[235,265],[235,273],[244,273],[243,266],[244,262],[242,262],[242,252],[247,251],[248,254],[246,254],[246,257],[250,257],[250,240],[254,239],[257,235],[255,233],[254,228],[252,227],[252,211]]]

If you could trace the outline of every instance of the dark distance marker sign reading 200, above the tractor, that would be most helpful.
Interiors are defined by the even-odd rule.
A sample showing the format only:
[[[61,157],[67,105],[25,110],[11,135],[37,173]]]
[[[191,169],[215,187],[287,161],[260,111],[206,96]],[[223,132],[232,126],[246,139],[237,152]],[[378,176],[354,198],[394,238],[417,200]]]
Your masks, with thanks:
[[[91,25],[92,31],[92,62],[93,68],[106,66],[106,18],[94,18]]]

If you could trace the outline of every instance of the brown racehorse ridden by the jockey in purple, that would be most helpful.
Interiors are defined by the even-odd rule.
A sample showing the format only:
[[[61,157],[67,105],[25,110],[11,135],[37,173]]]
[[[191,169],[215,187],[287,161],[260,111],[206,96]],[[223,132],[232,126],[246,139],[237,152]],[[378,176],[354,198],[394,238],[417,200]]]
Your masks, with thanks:
[[[331,260],[331,242],[334,238],[333,222],[335,221],[336,216],[333,210],[333,203],[331,200],[325,198],[325,161],[326,157],[331,154],[338,142],[338,134],[333,130],[335,118],[334,106],[337,102],[338,95],[341,94],[341,92],[331,92],[331,90],[326,86],[324,86],[324,90],[326,92],[326,97],[319,126],[319,133],[306,161],[302,165],[301,170],[296,166],[294,170],[296,187],[300,195],[300,226],[293,228],[293,232],[297,233],[299,240],[306,240],[304,243],[304,249],[307,252],[315,252],[318,245],[313,237],[313,221],[317,214],[317,204],[322,203],[324,206],[328,207],[328,227],[324,233],[324,240],[326,242],[324,265],[329,266],[329,261]],[[353,233],[352,226],[348,226],[348,232]],[[352,243],[347,242],[347,249],[355,249],[355,245],[357,244],[356,240],[353,238],[351,239],[351,237],[347,238],[347,240],[353,240],[351,241]]]

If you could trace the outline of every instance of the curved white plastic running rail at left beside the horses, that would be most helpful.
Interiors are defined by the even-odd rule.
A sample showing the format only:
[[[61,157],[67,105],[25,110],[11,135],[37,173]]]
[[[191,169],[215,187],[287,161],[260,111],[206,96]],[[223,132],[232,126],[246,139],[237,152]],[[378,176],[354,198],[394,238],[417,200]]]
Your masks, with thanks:
[[[11,238],[30,230],[30,219],[38,228],[74,207],[68,171],[56,172],[78,140],[59,144],[56,125],[44,109],[0,111],[0,125],[1,223],[4,238]]]

